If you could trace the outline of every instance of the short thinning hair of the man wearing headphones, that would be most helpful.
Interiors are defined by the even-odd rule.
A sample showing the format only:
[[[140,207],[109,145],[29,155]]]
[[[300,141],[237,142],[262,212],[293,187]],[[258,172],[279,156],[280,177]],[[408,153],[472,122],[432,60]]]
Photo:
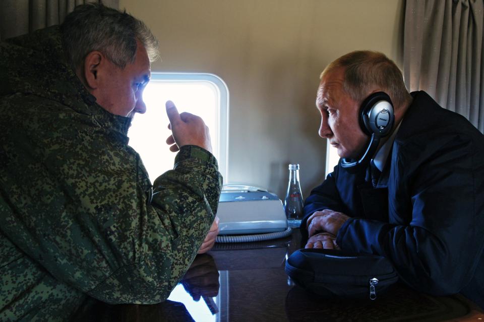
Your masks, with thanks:
[[[400,69],[381,52],[349,52],[329,64],[321,78],[339,67],[345,71],[343,89],[356,101],[363,101],[375,85],[390,95],[395,107],[411,100]]]

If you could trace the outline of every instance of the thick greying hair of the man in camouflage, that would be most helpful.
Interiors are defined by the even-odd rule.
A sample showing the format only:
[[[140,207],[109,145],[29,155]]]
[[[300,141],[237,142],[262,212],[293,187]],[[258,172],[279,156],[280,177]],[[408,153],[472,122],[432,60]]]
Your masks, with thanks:
[[[61,32],[67,61],[75,71],[84,66],[84,59],[93,50],[123,69],[135,61],[137,40],[150,62],[158,58],[158,41],[142,21],[102,4],[76,7],[66,16]]]

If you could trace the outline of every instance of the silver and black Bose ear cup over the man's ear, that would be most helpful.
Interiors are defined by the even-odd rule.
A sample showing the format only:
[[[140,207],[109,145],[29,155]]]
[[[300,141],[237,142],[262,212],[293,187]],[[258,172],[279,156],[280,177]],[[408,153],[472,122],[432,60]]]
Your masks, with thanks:
[[[361,103],[359,125],[365,134],[384,137],[391,132],[393,122],[393,104],[387,93],[373,93]]]

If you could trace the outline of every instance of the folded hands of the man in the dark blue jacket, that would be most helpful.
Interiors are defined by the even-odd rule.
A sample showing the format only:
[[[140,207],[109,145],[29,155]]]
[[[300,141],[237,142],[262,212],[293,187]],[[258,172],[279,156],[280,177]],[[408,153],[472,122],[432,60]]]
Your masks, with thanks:
[[[342,212],[324,209],[315,211],[306,222],[309,239],[305,248],[341,248],[336,244],[336,236],[343,224],[349,219]]]

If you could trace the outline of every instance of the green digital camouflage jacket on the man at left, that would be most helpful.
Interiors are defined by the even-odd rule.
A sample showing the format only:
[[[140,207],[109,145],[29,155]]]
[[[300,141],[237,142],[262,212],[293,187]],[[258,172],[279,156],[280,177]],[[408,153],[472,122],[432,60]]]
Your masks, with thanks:
[[[150,202],[131,119],[84,89],[57,26],[1,43],[0,114],[0,320],[165,300],[214,219],[214,156],[182,147]]]

